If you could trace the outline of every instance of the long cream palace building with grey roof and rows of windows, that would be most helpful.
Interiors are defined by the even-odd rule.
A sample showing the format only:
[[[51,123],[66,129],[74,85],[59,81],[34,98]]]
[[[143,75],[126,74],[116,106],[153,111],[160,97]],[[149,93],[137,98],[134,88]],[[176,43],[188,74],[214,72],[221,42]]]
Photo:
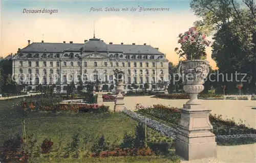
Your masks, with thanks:
[[[124,70],[124,86],[128,89],[134,83],[142,88],[148,83],[149,89],[157,83],[168,80],[168,60],[158,48],[150,45],[106,44],[95,38],[84,43],[30,43],[18,49],[13,59],[13,75],[17,82],[28,84],[35,89],[41,84],[56,84],[58,90],[75,82],[83,83],[100,80],[103,90],[109,90],[115,83],[113,70]]]

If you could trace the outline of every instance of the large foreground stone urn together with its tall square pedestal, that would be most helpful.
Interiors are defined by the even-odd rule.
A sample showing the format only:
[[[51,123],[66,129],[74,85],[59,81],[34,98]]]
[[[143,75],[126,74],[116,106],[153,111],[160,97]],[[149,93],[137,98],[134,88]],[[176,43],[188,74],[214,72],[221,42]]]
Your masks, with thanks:
[[[181,64],[183,89],[190,95],[190,99],[180,109],[176,153],[187,160],[217,156],[215,134],[210,132],[210,110],[206,110],[197,98],[204,90],[203,83],[208,72],[208,64],[202,60],[183,61]]]

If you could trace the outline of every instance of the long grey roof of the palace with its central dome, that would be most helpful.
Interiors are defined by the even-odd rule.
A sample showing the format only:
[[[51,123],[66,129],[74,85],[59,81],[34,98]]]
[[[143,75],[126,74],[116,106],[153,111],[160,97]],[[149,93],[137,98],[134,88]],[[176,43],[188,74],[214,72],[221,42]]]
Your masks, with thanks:
[[[62,53],[65,51],[108,51],[122,52],[126,54],[148,54],[148,55],[163,55],[158,49],[150,45],[126,45],[126,44],[105,44],[100,39],[90,39],[86,43],[41,43],[34,42],[20,50],[20,52],[52,52]]]

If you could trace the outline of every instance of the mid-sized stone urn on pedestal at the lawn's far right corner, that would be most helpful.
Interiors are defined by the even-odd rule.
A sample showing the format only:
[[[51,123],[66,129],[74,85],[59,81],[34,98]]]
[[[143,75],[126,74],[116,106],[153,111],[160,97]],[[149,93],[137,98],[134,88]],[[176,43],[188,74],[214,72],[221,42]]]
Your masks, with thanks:
[[[115,106],[114,106],[115,112],[122,111],[125,108],[124,97],[121,94],[121,92],[124,89],[122,83],[123,83],[122,80],[117,81],[117,85],[116,85],[117,96],[116,96],[116,101],[115,101]]]

